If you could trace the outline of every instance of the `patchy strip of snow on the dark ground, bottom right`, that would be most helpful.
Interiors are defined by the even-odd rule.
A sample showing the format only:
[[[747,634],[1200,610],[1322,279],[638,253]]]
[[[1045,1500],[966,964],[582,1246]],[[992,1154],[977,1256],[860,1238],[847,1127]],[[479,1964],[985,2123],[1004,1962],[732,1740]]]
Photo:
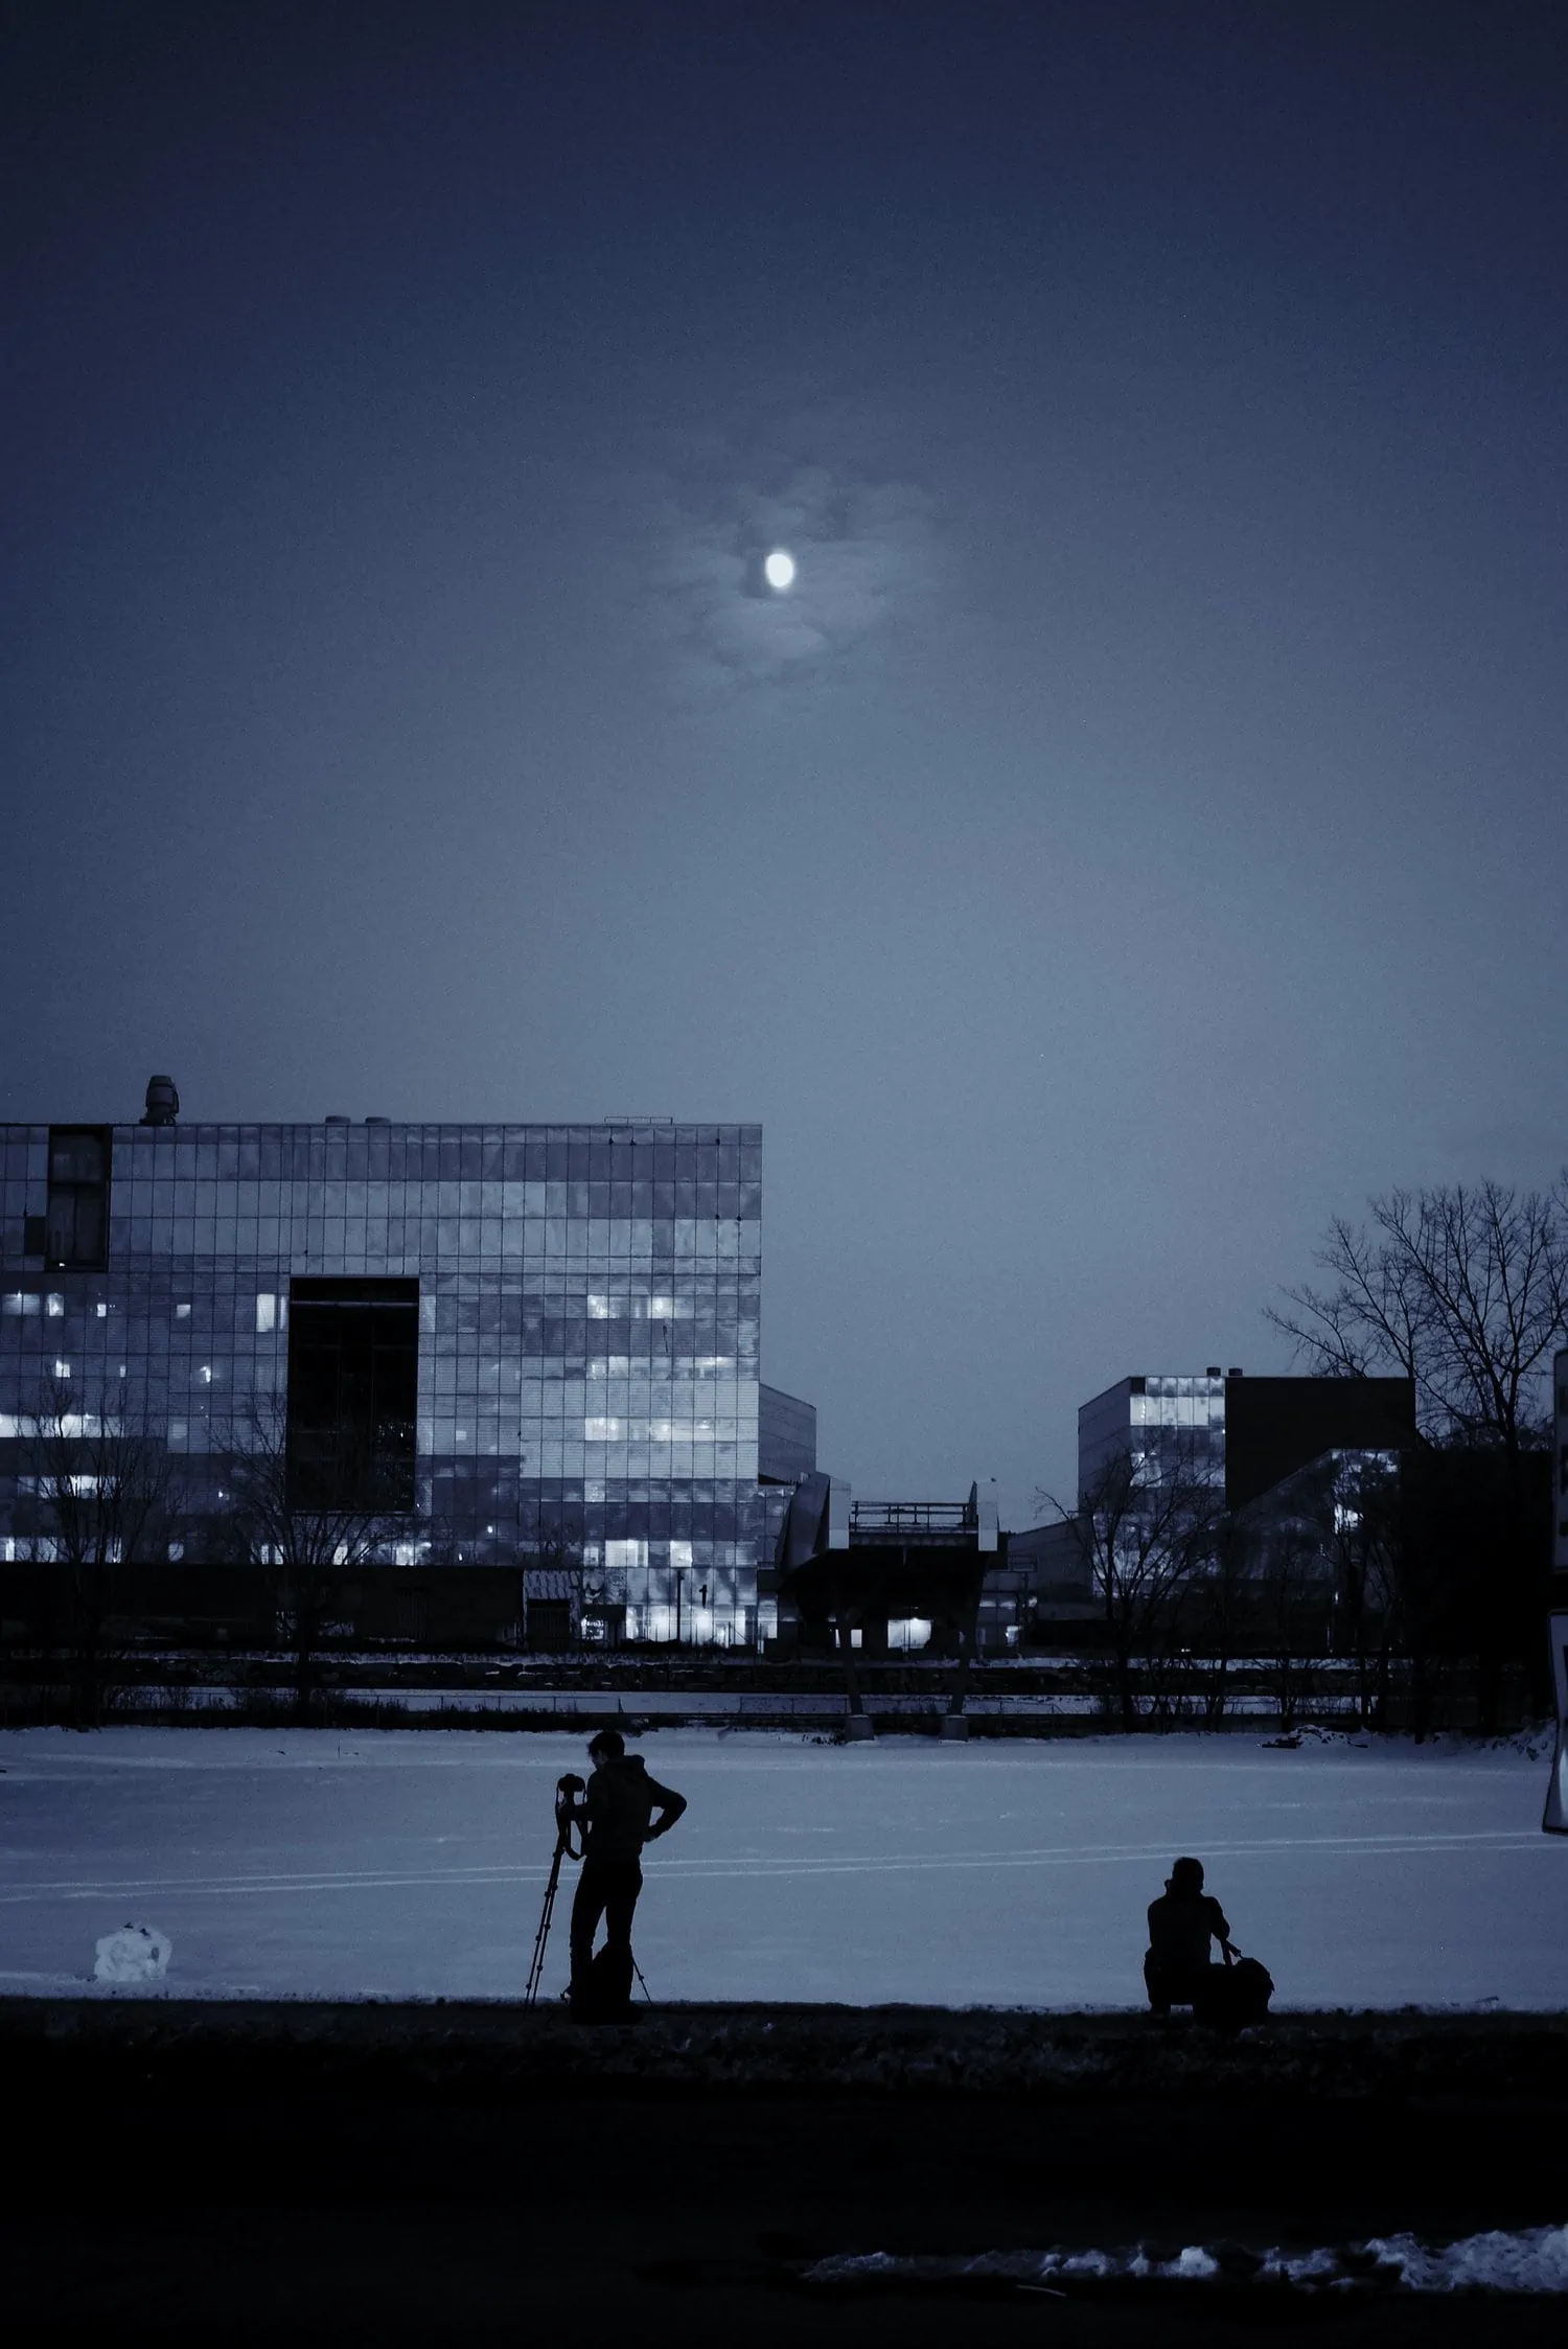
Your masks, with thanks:
[[[1469,2234],[1427,2246],[1413,2234],[1373,2236],[1368,2243],[1319,2250],[1249,2253],[1225,2243],[1207,2250],[984,2250],[972,2257],[845,2253],[807,2267],[805,2283],[1016,2283],[1021,2290],[1063,2290],[1096,2283],[1272,2286],[1300,2293],[1568,2293],[1568,2227],[1528,2227],[1519,2234]]]

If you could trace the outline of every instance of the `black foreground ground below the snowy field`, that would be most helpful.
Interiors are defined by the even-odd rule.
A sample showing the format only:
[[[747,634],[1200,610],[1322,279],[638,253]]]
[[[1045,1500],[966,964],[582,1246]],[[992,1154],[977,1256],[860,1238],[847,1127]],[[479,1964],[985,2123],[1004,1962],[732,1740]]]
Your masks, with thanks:
[[[0,2001],[7,2340],[1552,2342],[1561,2297],[1246,2253],[1568,2220],[1568,2018]],[[833,2253],[1228,2246],[1235,2281],[824,2286]]]

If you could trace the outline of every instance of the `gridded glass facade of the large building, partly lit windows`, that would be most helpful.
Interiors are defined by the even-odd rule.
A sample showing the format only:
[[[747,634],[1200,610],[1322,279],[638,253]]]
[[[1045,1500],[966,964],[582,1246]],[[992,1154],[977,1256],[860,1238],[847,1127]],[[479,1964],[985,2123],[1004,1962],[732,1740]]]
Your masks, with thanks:
[[[26,1254],[49,1130],[0,1137],[9,1555],[47,1539],[16,1489],[45,1386],[164,1433],[192,1543],[223,1513],[230,1431],[282,1409],[289,1280],[413,1276],[408,1562],[580,1555],[627,1637],[772,1628],[756,1616],[761,1128],[120,1125],[108,1266],[56,1273]]]

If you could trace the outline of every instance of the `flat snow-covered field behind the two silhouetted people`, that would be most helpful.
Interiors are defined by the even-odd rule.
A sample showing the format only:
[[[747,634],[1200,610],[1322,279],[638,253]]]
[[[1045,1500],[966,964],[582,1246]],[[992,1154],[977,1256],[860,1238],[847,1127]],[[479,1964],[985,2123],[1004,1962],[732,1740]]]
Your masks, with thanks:
[[[690,1811],[648,1853],[655,1999],[1134,2006],[1143,1910],[1209,1867],[1277,2006],[1568,2004],[1547,1757],[1258,1738],[641,1741]],[[115,1997],[94,1945],[174,1943],[167,1994],[516,1997],[580,1736],[0,1734],[0,1992]],[[566,1900],[545,1973],[566,1980]],[[148,1992],[136,1992],[146,1997]]]

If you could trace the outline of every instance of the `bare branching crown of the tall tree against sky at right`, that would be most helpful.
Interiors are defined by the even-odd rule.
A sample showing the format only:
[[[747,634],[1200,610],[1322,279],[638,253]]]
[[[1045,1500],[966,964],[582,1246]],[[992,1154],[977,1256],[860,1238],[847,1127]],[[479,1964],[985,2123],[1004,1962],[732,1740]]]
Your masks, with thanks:
[[[1329,1285],[1286,1290],[1268,1320],[1319,1374],[1413,1379],[1432,1445],[1537,1449],[1568,1327],[1568,1170],[1549,1191],[1390,1191],[1368,1212],[1371,1231],[1333,1219]]]

